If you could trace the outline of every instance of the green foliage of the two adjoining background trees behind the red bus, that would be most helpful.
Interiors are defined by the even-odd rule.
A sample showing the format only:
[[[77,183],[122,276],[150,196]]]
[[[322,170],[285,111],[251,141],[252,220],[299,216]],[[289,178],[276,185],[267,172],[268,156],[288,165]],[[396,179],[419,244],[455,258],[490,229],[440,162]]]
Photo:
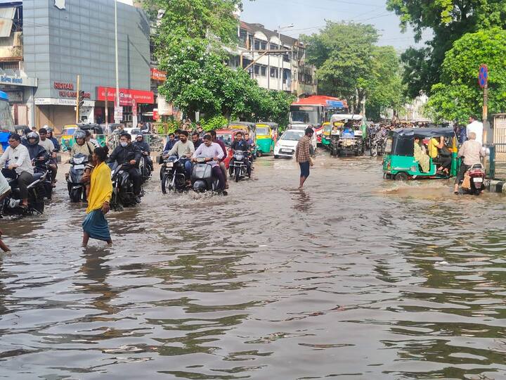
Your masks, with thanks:
[[[365,96],[368,117],[376,120],[387,108],[399,110],[405,103],[398,55],[392,46],[375,46],[372,25],[327,22],[320,34],[303,39],[309,61],[318,68],[320,94],[346,99],[355,112]]]

